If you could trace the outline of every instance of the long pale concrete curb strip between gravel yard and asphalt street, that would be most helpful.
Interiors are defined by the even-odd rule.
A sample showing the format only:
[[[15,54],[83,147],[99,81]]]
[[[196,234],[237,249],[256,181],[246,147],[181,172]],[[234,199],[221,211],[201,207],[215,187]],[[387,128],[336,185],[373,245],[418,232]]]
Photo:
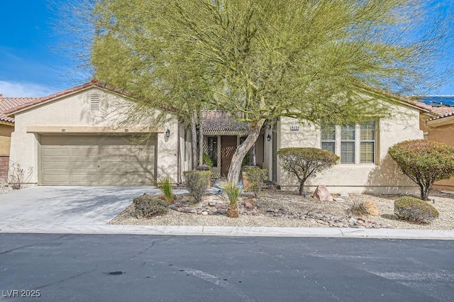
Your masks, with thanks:
[[[0,233],[131,234],[228,237],[336,237],[454,240],[450,230],[358,228],[259,228],[177,225],[2,225]]]

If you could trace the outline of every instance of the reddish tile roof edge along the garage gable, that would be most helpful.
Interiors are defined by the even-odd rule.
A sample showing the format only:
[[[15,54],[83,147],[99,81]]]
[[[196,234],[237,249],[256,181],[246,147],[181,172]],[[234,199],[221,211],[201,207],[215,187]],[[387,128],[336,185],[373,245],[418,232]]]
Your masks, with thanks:
[[[73,88],[57,92],[55,94],[51,94],[50,96],[43,96],[40,98],[11,98],[11,99],[23,99],[23,102],[17,103],[16,106],[13,106],[13,107],[5,110],[4,113],[8,116],[11,116],[13,113],[16,113],[18,111],[23,111],[28,108],[40,106],[40,105],[48,103],[50,101],[60,99],[60,97],[62,97],[62,96],[74,94],[75,92],[79,92],[84,89],[89,89],[94,86],[115,92],[116,94],[121,94],[123,96],[129,96],[129,94],[126,91],[123,91],[122,89],[116,89],[114,86],[110,86],[109,84],[106,84],[104,82],[99,82],[97,79],[92,79],[92,81],[90,81],[88,83],[84,83],[82,85],[75,86]]]

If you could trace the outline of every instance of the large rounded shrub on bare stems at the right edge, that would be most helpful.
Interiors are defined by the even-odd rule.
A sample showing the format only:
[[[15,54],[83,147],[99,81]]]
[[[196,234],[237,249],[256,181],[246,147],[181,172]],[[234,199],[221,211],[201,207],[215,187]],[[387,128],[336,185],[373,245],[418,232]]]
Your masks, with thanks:
[[[388,150],[399,169],[418,184],[427,200],[435,181],[454,176],[454,147],[431,140],[406,140]]]

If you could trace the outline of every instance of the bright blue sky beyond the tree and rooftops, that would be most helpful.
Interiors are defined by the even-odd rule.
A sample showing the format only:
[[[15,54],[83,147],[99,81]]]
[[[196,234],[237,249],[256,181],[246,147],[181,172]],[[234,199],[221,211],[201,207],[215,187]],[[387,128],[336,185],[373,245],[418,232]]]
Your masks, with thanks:
[[[55,30],[55,3],[62,1],[67,0],[1,1],[0,93],[4,96],[46,96],[89,79],[87,73],[74,74],[74,61],[62,43],[65,36]],[[429,93],[454,95],[454,77]]]

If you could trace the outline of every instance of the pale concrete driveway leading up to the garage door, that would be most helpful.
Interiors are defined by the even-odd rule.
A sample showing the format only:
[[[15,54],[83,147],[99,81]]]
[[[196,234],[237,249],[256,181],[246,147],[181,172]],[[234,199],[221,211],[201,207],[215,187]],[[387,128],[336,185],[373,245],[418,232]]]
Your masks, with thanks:
[[[105,225],[151,186],[34,186],[0,194],[0,225]]]

